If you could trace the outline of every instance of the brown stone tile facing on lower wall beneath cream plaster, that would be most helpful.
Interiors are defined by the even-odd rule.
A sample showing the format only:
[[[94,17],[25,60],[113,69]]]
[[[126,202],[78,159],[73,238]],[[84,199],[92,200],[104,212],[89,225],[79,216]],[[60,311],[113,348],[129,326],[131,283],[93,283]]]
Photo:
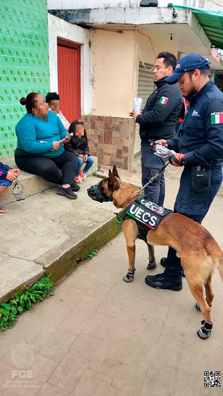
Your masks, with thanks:
[[[134,160],[135,124],[130,118],[85,116],[90,153],[99,164],[131,170]]]

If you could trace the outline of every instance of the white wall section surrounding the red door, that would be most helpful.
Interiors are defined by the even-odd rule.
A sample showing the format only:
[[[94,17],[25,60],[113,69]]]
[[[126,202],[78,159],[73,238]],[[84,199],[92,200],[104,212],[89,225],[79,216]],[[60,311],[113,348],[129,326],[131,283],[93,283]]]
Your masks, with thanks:
[[[81,114],[90,114],[90,48],[89,30],[65,22],[48,13],[50,90],[58,92],[57,38],[64,38],[81,44]]]

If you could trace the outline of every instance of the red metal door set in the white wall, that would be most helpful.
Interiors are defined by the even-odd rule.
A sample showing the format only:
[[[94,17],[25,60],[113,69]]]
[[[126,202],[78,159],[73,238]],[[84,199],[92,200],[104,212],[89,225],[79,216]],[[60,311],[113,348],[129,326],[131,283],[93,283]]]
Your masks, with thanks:
[[[60,110],[69,122],[81,118],[81,51],[80,46],[58,40],[58,93]]]

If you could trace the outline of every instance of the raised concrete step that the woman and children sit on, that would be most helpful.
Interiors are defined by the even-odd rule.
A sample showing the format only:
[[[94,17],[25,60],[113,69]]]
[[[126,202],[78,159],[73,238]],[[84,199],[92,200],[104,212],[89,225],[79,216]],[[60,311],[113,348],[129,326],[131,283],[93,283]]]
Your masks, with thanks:
[[[94,158],[94,164],[89,169],[87,176],[92,175],[92,173],[96,172],[98,169],[98,158]],[[1,162],[3,164],[7,164],[11,168],[17,168],[15,164],[14,156],[1,158]],[[82,166],[84,168],[84,165]],[[49,188],[55,187],[55,184],[48,183],[42,177],[33,175],[32,173],[27,173],[24,171],[20,171],[19,180],[25,187],[26,197],[30,197],[32,195],[38,194],[39,192],[46,191]],[[0,206],[4,206],[9,204],[10,202],[15,202],[15,197],[11,192],[11,187],[7,188],[5,192],[0,194]]]

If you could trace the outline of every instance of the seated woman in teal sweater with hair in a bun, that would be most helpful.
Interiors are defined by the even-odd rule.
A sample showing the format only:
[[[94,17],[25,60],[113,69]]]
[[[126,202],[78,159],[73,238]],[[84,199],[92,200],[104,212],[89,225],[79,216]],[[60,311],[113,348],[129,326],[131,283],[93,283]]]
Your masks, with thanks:
[[[29,93],[26,98],[20,99],[20,103],[25,105],[27,114],[19,120],[15,128],[16,165],[23,171],[58,184],[59,194],[77,198],[73,192],[80,189],[73,183],[77,172],[77,156],[63,148],[69,137],[60,118],[54,112],[48,111],[45,99],[38,93]],[[59,169],[62,169],[62,175]]]

